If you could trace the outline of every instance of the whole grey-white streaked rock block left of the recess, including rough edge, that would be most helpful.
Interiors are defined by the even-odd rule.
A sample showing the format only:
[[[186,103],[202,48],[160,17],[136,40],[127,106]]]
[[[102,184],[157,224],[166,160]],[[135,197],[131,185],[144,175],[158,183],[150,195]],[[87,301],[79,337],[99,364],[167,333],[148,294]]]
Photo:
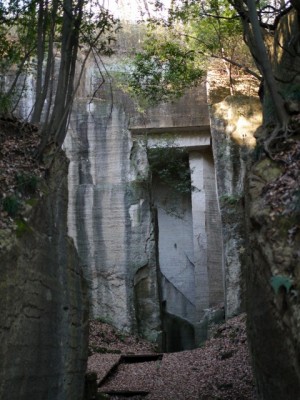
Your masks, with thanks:
[[[91,316],[156,340],[160,320],[148,170],[143,145],[130,140],[125,107],[109,98],[75,105],[65,142],[69,232],[86,264]]]

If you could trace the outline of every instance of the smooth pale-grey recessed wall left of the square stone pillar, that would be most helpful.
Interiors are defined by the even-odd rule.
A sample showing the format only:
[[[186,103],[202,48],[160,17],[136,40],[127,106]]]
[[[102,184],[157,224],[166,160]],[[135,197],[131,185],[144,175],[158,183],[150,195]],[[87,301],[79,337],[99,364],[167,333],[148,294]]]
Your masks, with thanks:
[[[186,299],[195,303],[193,221],[190,194],[175,191],[159,181],[152,182],[153,203],[157,207],[158,253],[161,273]],[[178,302],[167,304],[167,311],[178,314]],[[181,315],[192,319],[194,315]]]

